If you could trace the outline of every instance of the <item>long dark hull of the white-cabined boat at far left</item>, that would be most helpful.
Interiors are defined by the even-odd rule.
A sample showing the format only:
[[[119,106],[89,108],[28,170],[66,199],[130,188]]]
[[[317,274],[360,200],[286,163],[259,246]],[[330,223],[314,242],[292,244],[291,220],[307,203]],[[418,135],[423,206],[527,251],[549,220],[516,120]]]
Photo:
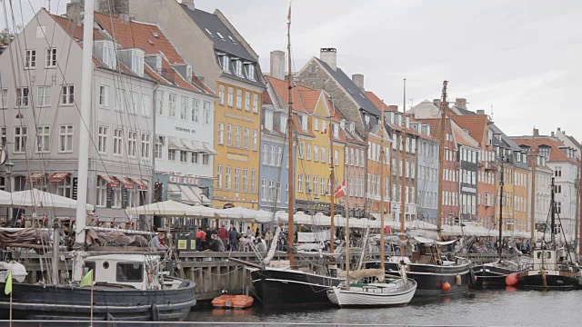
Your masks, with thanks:
[[[5,283],[0,283],[4,290]],[[195,284],[184,281],[177,289],[141,291],[115,285],[95,285],[95,321],[176,322],[186,319],[196,305]],[[41,284],[13,283],[13,319],[88,321],[91,289]],[[8,319],[10,295],[0,293],[0,319]]]

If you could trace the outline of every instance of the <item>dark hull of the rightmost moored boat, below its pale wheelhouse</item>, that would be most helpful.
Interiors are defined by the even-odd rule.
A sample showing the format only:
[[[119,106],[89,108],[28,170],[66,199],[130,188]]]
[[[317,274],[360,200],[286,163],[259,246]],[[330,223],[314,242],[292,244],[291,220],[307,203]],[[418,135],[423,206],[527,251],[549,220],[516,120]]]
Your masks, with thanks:
[[[544,281],[540,271],[527,270],[520,272],[519,287],[531,290],[543,290]],[[548,290],[577,290],[582,289],[582,274],[580,272],[562,272],[551,271],[546,272],[546,282]]]

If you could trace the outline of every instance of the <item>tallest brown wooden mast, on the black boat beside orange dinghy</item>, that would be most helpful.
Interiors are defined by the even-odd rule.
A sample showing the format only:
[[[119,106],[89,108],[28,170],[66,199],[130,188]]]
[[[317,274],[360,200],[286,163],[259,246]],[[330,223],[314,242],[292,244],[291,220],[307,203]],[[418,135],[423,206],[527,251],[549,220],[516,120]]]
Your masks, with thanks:
[[[293,99],[291,97],[291,91],[293,89],[293,76],[291,74],[291,6],[289,5],[289,15],[287,16],[287,60],[289,66],[289,74],[287,75],[287,88],[289,93],[287,94],[287,138],[289,143],[289,193],[288,193],[288,213],[289,213],[289,229],[287,236],[287,253],[289,255],[289,265],[293,267],[295,265],[295,249],[293,248],[294,243],[294,231],[293,231],[293,202],[295,198],[295,173],[293,171]]]

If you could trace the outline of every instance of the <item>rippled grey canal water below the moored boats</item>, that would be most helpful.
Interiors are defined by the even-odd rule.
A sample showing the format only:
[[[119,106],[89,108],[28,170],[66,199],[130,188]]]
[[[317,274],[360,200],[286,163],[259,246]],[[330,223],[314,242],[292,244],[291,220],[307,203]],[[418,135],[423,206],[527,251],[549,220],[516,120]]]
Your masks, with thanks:
[[[462,297],[413,300],[406,307],[384,309],[276,309],[245,311],[197,309],[190,322],[311,324],[387,324],[412,326],[582,326],[582,291],[498,290]]]

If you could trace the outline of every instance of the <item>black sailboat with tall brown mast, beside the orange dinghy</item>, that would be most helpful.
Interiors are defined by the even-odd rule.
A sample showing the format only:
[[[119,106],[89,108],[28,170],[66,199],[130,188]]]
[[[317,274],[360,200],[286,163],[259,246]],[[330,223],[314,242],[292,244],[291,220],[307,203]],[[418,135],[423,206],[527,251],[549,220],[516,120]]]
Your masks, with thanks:
[[[289,11],[290,12],[290,11]],[[287,57],[289,74],[287,76],[288,87],[288,116],[287,116],[287,142],[288,144],[288,158],[289,158],[289,190],[288,190],[288,231],[287,231],[287,249],[288,249],[288,264],[283,266],[268,265],[266,261],[263,266],[254,268],[247,268],[251,272],[251,279],[255,287],[256,296],[260,303],[264,306],[280,306],[280,305],[329,305],[327,300],[326,290],[330,287],[337,286],[343,279],[332,277],[331,273],[327,275],[317,274],[314,272],[306,272],[296,268],[295,263],[295,249],[294,245],[294,183],[295,173],[293,169],[293,100],[292,100],[292,74],[291,74],[291,17],[287,17]],[[330,128],[331,132],[331,128]],[[332,140],[333,142],[333,140]],[[333,154],[333,151],[332,151]],[[334,161],[331,161],[333,166]],[[332,183],[333,185],[333,183]],[[333,196],[332,196],[333,197]],[[333,208],[333,204],[331,206]],[[334,217],[332,216],[332,222]],[[333,225],[332,225],[333,226]],[[331,231],[333,233],[333,230]],[[275,242],[272,247],[275,246]],[[333,247],[333,242],[332,245]],[[271,252],[274,252],[271,249]],[[328,271],[329,272],[329,271]]]

